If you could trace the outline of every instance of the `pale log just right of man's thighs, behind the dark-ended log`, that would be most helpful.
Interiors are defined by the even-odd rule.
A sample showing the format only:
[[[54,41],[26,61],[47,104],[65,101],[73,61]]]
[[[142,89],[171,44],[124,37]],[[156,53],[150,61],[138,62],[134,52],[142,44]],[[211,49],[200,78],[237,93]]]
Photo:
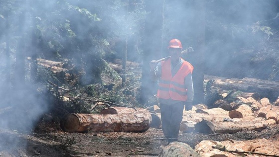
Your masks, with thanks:
[[[201,122],[202,120],[222,122],[224,118],[230,118],[228,114],[203,114],[203,113],[193,113],[193,114],[183,114],[183,121],[193,121]]]

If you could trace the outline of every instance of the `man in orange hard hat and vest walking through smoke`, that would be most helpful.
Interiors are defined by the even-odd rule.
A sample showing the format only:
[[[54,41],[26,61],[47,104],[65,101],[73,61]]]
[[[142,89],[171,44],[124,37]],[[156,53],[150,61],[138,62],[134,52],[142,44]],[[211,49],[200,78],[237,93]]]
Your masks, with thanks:
[[[183,108],[192,109],[193,102],[193,66],[180,58],[182,44],[178,39],[169,41],[170,58],[159,62],[150,62],[150,77],[159,80],[157,97],[161,110],[161,122],[168,144],[178,140]]]

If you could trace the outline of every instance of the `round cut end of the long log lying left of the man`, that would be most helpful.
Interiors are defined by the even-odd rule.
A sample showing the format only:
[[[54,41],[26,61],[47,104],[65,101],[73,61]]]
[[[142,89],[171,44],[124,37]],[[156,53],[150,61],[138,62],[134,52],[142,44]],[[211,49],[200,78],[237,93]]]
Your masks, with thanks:
[[[68,114],[60,121],[60,127],[64,132],[74,133],[79,128],[79,119],[74,114]]]

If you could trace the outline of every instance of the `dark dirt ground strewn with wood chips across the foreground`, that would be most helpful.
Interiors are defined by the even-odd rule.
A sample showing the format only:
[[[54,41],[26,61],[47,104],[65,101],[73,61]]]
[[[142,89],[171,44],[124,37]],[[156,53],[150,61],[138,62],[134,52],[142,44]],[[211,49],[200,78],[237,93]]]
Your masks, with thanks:
[[[237,141],[269,138],[278,125],[262,132],[236,134],[180,133],[179,141],[192,148],[202,140]],[[161,129],[144,133],[65,133],[57,121],[39,122],[32,132],[0,129],[0,157],[158,157],[167,145]]]

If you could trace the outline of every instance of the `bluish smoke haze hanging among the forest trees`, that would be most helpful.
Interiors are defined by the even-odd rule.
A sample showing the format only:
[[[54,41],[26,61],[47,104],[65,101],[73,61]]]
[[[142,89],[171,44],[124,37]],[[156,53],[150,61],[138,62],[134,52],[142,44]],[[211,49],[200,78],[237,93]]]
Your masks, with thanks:
[[[205,0],[204,10],[196,5],[195,0],[1,0],[0,114],[11,112],[1,116],[0,127],[32,132],[53,107],[45,85],[58,81],[42,67],[32,80],[33,62],[27,60],[32,56],[70,59],[84,70],[79,86],[85,86],[102,82],[102,59],[122,59],[124,51],[130,61],[159,59],[168,56],[168,41],[178,38],[184,49],[194,48],[183,57],[196,71],[278,81],[278,0]]]

